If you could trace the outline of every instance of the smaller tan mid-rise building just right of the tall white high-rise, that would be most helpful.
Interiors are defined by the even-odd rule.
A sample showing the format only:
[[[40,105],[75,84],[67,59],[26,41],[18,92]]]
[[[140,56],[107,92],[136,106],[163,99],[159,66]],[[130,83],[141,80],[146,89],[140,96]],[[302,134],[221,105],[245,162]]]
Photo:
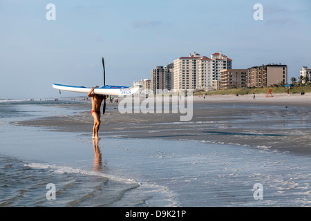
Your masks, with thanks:
[[[246,86],[247,69],[220,70],[219,89],[243,88]]]

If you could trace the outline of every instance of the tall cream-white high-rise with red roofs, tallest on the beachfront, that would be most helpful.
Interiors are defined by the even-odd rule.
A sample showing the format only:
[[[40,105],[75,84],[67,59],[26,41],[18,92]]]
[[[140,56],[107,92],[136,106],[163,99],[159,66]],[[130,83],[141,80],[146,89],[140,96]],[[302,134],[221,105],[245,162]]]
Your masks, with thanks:
[[[214,53],[211,58],[196,52],[180,57],[173,62],[173,89],[212,89],[214,82],[219,84],[220,70],[227,68],[232,68],[232,59],[222,52]]]

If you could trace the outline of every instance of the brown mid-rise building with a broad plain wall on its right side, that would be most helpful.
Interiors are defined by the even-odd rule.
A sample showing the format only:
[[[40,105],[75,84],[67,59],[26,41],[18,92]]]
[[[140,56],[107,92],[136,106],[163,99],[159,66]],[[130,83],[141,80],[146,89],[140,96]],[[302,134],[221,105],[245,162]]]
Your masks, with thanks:
[[[273,84],[288,82],[288,66],[283,64],[267,64],[247,68],[246,86],[263,88]]]

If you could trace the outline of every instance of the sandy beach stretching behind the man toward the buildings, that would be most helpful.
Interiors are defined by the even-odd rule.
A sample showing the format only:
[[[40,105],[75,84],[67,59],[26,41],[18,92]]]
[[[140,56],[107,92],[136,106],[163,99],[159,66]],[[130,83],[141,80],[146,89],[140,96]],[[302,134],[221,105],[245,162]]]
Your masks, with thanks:
[[[91,136],[91,103],[70,104],[70,108],[77,109],[77,114],[15,124]],[[180,113],[121,114],[117,108],[117,104],[107,104],[100,137],[198,140],[311,155],[310,93],[274,97],[258,94],[255,99],[252,95],[196,96],[193,117],[187,122],[180,122]]]

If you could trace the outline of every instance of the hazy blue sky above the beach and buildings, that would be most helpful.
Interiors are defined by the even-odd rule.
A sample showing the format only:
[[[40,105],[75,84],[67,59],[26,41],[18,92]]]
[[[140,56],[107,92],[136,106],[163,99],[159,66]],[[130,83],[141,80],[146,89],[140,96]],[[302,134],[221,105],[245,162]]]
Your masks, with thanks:
[[[0,0],[0,28],[0,99],[59,97],[53,83],[102,86],[102,57],[106,84],[122,86],[194,51],[222,51],[232,68],[287,64],[289,79],[311,67],[310,0]]]

